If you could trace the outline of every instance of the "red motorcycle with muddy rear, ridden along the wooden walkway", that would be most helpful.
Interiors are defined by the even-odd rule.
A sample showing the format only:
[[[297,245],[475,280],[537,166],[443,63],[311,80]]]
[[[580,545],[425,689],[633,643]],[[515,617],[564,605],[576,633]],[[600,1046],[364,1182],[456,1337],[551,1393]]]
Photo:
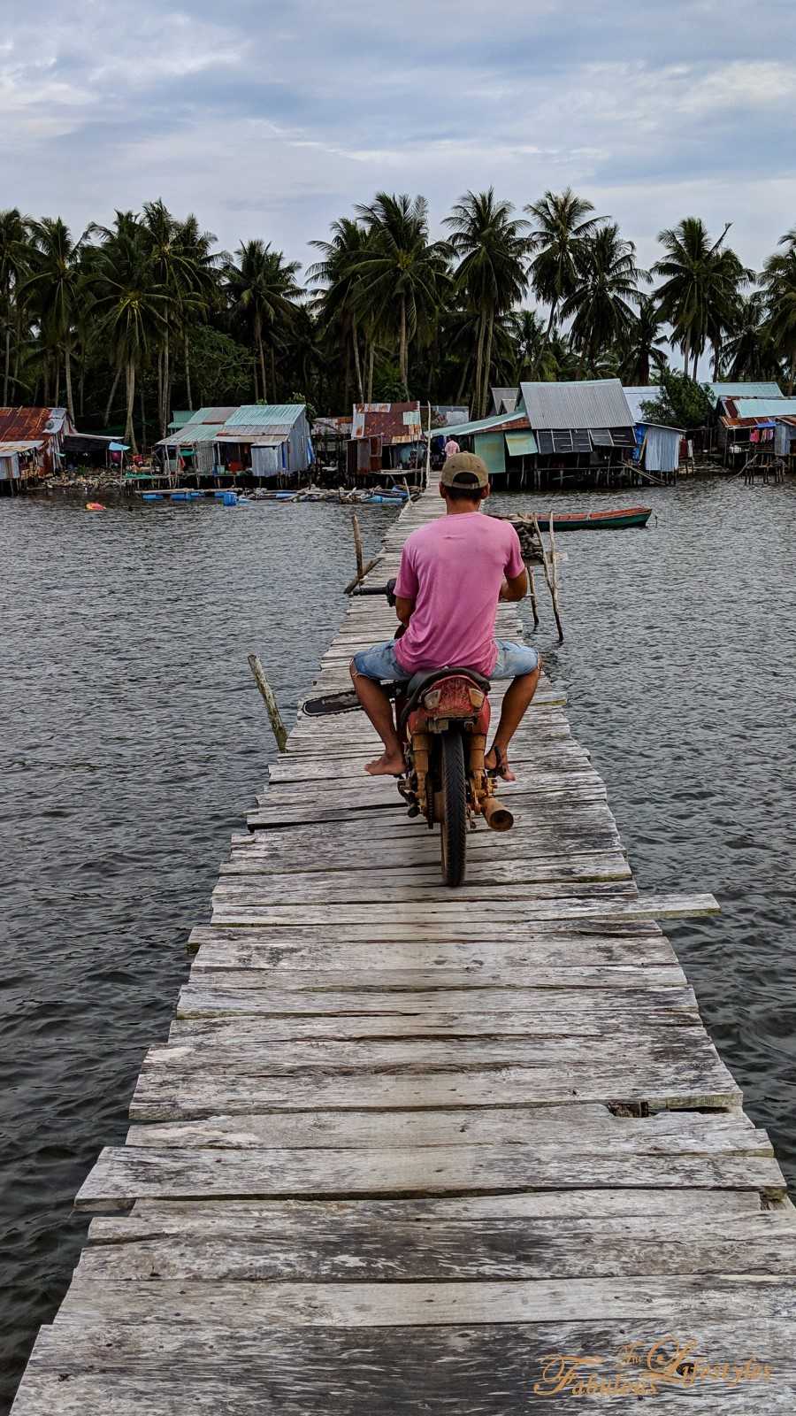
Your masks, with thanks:
[[[356,589],[354,595],[387,595],[395,603],[395,581]],[[401,633],[401,630],[399,630]],[[466,872],[467,833],[483,817],[493,831],[508,831],[511,811],[496,796],[496,780],[484,766],[490,724],[489,678],[474,668],[446,666],[415,674],[406,684],[384,685],[395,700],[395,725],[405,772],[398,792],[411,817],[439,826],[442,879],[460,885]],[[333,702],[334,700],[334,702]],[[353,701],[351,701],[353,700]],[[358,707],[356,694],[334,694],[306,702],[310,715]]]

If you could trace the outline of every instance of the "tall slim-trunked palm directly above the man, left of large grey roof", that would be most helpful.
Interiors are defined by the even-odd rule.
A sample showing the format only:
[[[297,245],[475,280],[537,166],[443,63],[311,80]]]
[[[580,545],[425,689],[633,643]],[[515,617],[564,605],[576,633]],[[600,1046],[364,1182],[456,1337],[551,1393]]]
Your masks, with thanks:
[[[459,259],[456,289],[479,317],[473,384],[476,418],[483,418],[487,408],[496,317],[507,314],[528,285],[528,222],[513,217],[513,211],[511,202],[494,200],[494,188],[490,187],[482,193],[467,191],[445,218],[445,225],[450,228],[450,248]]]

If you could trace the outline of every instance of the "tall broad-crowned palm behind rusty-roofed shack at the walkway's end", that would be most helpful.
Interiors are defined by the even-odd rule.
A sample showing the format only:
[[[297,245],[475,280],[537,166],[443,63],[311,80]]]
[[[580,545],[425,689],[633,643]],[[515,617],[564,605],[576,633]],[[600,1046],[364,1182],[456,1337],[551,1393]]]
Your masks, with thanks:
[[[398,338],[398,367],[409,391],[409,346],[426,334],[438,314],[440,289],[448,279],[449,248],[428,235],[425,197],[377,193],[357,217],[370,241],[353,261],[354,306],[373,337]]]

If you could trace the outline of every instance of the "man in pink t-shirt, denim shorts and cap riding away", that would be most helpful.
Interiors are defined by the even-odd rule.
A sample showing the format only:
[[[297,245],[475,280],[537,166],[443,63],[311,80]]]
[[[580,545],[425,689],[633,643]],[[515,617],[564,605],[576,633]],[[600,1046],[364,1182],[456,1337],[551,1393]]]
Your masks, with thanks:
[[[382,683],[405,683],[419,670],[474,668],[487,678],[511,678],[487,769],[514,782],[508,743],[534,697],[540,656],[527,644],[494,639],[499,600],[521,600],[528,589],[520,538],[507,521],[480,514],[489,497],[486,464],[469,452],[449,457],[439,476],[446,515],[414,531],[404,544],[395,582],[399,639],[354,654],[351,680],[361,707],[384,743],[368,762],[371,776],[401,776],[404,752]]]

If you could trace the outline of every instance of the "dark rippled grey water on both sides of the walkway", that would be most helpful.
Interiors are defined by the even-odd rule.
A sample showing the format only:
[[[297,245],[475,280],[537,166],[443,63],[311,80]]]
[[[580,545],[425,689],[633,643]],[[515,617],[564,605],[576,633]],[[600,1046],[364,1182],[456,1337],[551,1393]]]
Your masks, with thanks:
[[[671,933],[793,1180],[796,489],[643,500],[647,531],[561,538],[567,643],[551,647],[545,602],[537,639],[640,885],[721,899],[721,920]],[[392,515],[363,508],[365,552]],[[353,551],[334,506],[91,515],[23,500],[0,501],[0,556],[1,1409],[76,1260],[88,1221],[72,1197],[99,1147],[123,1140],[187,932],[265,777],[246,653],[293,704]]]

